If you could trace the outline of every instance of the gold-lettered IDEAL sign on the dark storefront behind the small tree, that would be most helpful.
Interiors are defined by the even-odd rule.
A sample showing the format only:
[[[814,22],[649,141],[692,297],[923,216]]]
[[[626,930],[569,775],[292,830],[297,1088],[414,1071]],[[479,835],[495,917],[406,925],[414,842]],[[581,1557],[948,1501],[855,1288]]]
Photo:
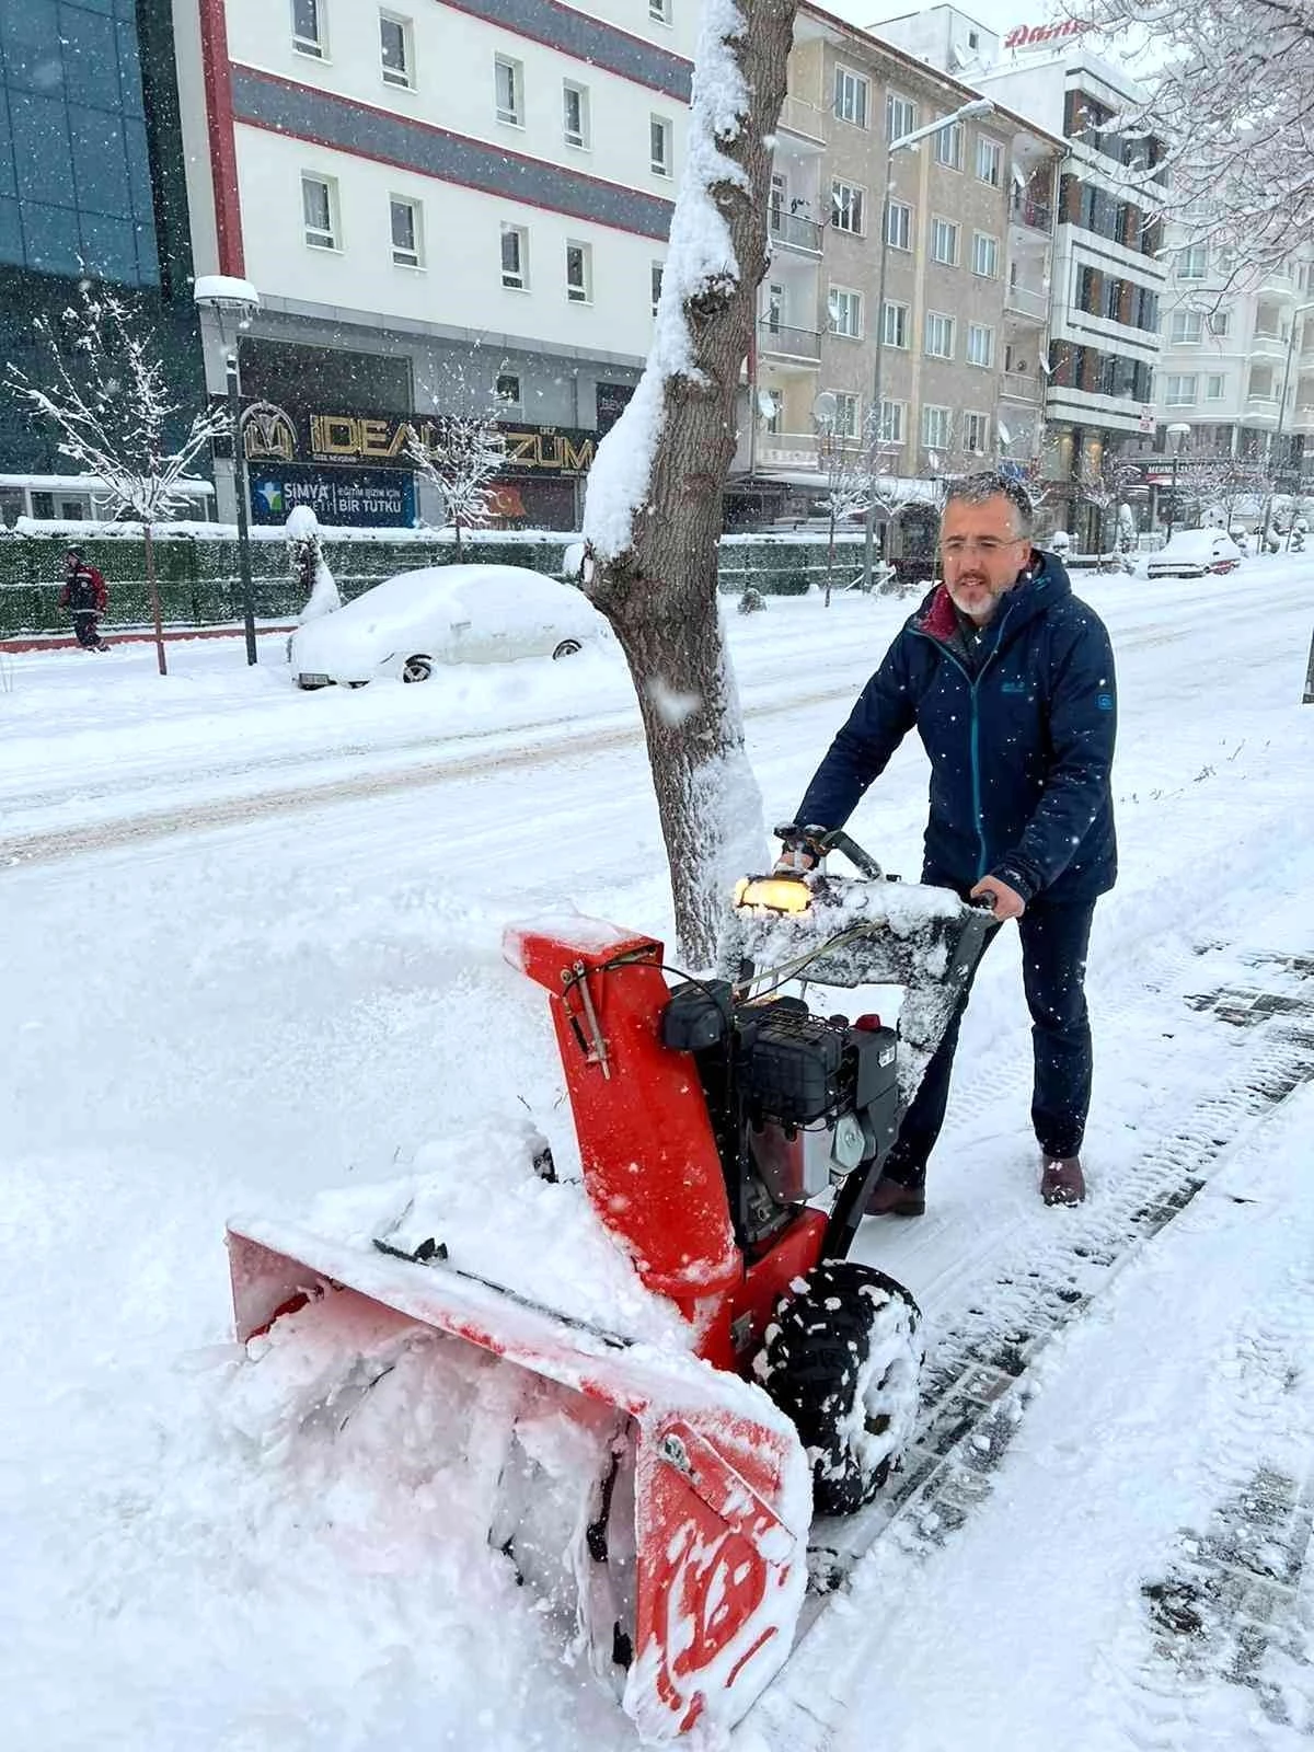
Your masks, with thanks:
[[[259,410],[259,417],[254,417]],[[319,463],[331,468],[406,470],[412,438],[442,450],[442,413],[336,413],[315,410],[291,417],[268,403],[244,417],[247,463]],[[596,433],[573,426],[508,426],[498,422],[506,445],[506,473],[587,475]]]

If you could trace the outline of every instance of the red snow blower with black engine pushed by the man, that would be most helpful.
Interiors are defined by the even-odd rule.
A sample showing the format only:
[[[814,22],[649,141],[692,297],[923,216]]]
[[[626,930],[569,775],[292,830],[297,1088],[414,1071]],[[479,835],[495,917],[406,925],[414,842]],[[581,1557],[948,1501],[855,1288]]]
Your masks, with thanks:
[[[865,1503],[916,1417],[916,1303],[846,1254],[988,913],[885,880],[844,834],[778,834],[862,876],[741,883],[717,978],[668,985],[661,943],[576,916],[505,937],[548,992],[583,1195],[683,1349],[548,1307],[438,1235],[228,1235],[242,1340],[308,1309],[343,1347],[364,1316],[524,1370],[489,1538],[520,1579],[568,1587],[645,1741],[746,1712],[790,1650],[813,1508]],[[813,1014],[790,981],[904,986],[899,1030]],[[545,1444],[545,1419],[573,1445]]]

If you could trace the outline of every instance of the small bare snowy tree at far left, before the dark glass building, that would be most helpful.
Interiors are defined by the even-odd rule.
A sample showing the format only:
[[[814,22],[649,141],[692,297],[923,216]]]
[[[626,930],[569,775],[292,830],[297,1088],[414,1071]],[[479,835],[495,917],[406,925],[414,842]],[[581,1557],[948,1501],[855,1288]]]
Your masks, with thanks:
[[[58,324],[47,317],[35,321],[49,354],[46,384],[35,384],[14,364],[5,377],[54,426],[60,456],[105,482],[116,515],[140,522],[156,659],[166,675],[152,526],[186,503],[179,482],[208,443],[228,431],[228,412],[212,406],[196,413],[182,443],[170,450],[165,429],[182,403],[170,396],[165,364],[149,350],[147,326],[135,321],[130,301],[109,286],[82,280],[77,300]]]

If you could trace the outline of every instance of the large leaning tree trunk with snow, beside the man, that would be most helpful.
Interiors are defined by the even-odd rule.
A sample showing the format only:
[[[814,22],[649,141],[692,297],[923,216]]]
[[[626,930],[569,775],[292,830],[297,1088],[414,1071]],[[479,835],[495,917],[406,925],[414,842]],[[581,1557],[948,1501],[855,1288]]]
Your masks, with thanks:
[[[762,808],[717,599],[722,491],[766,273],[771,131],[795,0],[704,0],[689,151],[643,380],[589,477],[585,590],[615,627],[648,743],[680,953],[711,964]]]

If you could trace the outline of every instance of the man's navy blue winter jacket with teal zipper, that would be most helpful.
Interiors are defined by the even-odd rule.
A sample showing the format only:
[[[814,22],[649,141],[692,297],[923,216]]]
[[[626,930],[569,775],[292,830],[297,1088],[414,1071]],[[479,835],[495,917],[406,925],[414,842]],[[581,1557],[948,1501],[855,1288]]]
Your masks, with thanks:
[[[948,592],[932,590],[858,696],[795,820],[843,827],[916,725],[930,757],[929,876],[962,888],[997,876],[1023,901],[1093,901],[1118,874],[1116,724],[1104,622],[1072,596],[1053,554],[1034,550],[974,662]]]

